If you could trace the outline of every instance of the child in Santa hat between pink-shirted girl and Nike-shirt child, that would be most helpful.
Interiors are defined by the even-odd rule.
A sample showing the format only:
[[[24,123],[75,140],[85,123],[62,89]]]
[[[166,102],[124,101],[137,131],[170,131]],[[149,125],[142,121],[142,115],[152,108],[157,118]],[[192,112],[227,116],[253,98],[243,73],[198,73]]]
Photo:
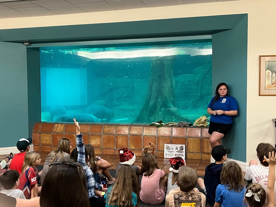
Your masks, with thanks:
[[[176,184],[176,177],[178,174],[178,168],[181,166],[186,165],[185,160],[182,157],[173,157],[169,159],[169,162],[171,164],[171,167],[169,169],[170,173],[168,174],[168,184],[167,184],[167,193],[166,195],[171,191],[171,189],[178,188]]]

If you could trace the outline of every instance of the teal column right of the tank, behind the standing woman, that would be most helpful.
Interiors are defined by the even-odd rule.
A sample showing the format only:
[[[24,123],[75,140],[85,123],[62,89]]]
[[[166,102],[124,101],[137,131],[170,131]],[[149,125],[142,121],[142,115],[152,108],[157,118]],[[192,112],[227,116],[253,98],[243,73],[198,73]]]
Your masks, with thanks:
[[[238,115],[229,134],[223,139],[229,158],[246,162],[247,113],[247,15],[231,30],[213,34],[213,93],[220,82],[229,86],[238,102]]]

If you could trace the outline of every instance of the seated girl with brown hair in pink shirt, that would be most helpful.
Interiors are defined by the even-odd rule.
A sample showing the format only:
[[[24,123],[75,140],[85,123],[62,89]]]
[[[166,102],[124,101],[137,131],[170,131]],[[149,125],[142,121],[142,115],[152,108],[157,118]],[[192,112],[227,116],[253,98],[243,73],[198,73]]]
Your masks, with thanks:
[[[167,176],[157,164],[154,154],[146,153],[142,158],[140,199],[146,204],[159,205],[165,198]]]

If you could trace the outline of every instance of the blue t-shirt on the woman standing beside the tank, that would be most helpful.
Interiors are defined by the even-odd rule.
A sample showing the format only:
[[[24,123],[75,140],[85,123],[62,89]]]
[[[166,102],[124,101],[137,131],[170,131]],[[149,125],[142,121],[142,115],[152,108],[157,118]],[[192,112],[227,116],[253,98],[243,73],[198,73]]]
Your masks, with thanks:
[[[235,98],[232,96],[225,96],[220,97],[212,106],[212,103],[214,101],[215,97],[212,98],[211,102],[207,106],[208,108],[212,110],[223,110],[223,111],[237,111],[238,110],[238,103]],[[221,124],[232,124],[232,116],[228,115],[213,115],[211,114],[210,121],[215,123],[221,123]]]

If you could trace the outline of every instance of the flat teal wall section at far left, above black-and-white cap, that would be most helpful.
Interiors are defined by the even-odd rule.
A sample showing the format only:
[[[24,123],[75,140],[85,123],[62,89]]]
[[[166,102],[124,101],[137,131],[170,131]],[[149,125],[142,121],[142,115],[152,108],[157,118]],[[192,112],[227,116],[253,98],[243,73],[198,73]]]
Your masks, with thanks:
[[[0,42],[1,145],[29,136],[26,46]]]

